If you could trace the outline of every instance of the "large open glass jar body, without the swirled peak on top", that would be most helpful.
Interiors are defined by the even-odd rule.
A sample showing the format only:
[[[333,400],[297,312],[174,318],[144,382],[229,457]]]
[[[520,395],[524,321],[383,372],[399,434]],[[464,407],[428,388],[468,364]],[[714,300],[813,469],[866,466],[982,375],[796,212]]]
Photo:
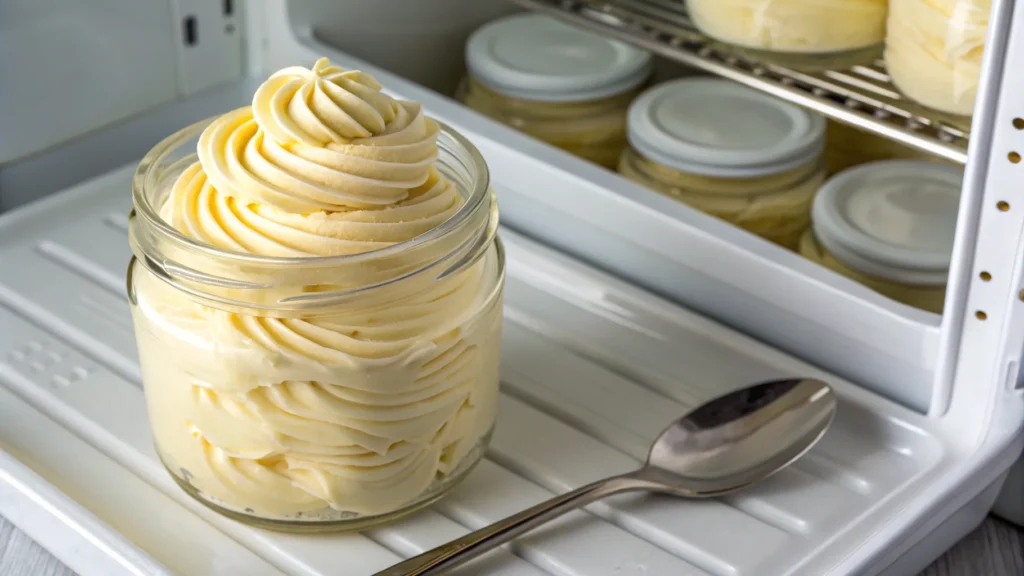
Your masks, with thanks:
[[[128,292],[158,454],[190,495],[286,531],[359,529],[429,504],[480,459],[499,386],[504,251],[479,153],[442,127],[466,202],[355,255],[193,241],[159,209],[209,120],[133,180]]]

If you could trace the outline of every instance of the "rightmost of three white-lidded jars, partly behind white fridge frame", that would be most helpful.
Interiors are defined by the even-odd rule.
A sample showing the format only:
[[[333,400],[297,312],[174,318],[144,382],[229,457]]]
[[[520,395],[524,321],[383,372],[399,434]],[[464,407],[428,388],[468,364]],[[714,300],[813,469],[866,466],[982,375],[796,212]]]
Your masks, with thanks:
[[[821,187],[800,253],[941,314],[963,177],[957,167],[914,160],[846,170]]]

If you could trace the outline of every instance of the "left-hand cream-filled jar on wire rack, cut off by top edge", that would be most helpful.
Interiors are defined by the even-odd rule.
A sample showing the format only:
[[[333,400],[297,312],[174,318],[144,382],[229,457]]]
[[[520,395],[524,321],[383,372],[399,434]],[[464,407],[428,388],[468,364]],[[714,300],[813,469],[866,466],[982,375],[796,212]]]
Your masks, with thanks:
[[[888,0],[688,0],[693,24],[736,46],[787,54],[878,53]]]

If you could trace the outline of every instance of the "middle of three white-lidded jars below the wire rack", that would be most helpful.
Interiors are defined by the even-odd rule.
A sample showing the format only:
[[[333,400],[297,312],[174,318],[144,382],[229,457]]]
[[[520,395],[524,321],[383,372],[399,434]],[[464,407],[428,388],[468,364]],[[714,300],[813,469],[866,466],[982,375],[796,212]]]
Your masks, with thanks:
[[[824,180],[824,119],[712,78],[668,82],[630,108],[618,171],[651,190],[796,249]]]

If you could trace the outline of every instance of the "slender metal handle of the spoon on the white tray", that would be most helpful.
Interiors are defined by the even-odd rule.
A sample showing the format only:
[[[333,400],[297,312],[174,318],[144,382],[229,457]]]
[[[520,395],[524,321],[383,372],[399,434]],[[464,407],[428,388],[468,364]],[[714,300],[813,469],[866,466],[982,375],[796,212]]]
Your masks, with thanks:
[[[586,506],[611,494],[631,490],[646,490],[650,483],[636,472],[608,478],[577,488],[541,502],[521,512],[500,520],[490,526],[470,532],[458,540],[453,540],[432,550],[413,557],[391,568],[378,572],[375,576],[431,576],[446,573],[480,554],[514,540],[530,530],[552,520]]]

